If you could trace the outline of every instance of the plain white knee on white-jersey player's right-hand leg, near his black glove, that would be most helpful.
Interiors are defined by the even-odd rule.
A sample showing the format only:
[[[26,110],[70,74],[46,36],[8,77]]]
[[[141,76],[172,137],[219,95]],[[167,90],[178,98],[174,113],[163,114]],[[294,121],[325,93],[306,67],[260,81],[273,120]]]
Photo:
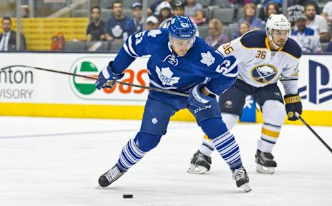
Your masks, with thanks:
[[[286,118],[285,105],[277,100],[268,100],[262,107],[264,123],[282,126]]]

